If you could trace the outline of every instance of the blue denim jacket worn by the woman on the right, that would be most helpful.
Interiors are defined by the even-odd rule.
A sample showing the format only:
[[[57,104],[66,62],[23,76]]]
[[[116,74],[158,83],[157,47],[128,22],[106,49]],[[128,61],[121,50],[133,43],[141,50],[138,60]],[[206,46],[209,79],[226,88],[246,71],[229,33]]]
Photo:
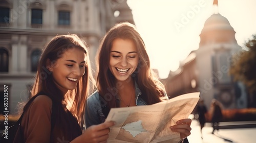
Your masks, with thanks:
[[[138,84],[135,82],[135,89],[136,89],[136,105],[140,106],[140,105],[147,105],[147,103],[140,98],[141,95],[141,91],[138,87]],[[164,92],[165,97],[168,99],[166,92]],[[106,97],[105,100],[108,100],[107,98],[112,98],[113,96],[104,96]],[[118,98],[118,96],[114,96],[117,100],[117,103],[120,103],[120,100]],[[86,121],[86,128],[92,126],[92,125],[98,125],[101,124],[103,122],[105,122],[105,115],[102,112],[102,107],[106,106],[106,102],[102,102],[102,100],[100,100],[100,98],[102,98],[101,96],[99,96],[99,92],[98,90],[95,91],[89,98],[87,101],[87,106],[85,109],[85,121]],[[103,100],[103,101],[105,101]]]

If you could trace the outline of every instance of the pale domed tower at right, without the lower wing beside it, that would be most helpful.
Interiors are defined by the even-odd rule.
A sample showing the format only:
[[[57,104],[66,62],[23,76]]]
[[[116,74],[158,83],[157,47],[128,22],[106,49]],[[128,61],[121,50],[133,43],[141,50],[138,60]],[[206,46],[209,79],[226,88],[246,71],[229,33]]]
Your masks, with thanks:
[[[245,108],[246,98],[238,102],[238,95],[232,77],[228,74],[232,55],[241,50],[236,32],[227,18],[220,13],[212,14],[204,24],[200,34],[199,49],[196,53],[198,69],[198,89],[206,105],[211,99],[219,100],[225,108]],[[243,85],[240,85],[243,88]],[[241,96],[241,95],[240,95]]]

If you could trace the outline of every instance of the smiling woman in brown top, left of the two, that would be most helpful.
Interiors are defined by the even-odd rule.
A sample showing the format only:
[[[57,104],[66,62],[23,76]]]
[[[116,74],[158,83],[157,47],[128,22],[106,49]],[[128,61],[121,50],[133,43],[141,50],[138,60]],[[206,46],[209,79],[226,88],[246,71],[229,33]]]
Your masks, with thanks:
[[[91,77],[86,43],[75,34],[55,36],[40,57],[32,98],[24,107],[22,140],[105,142],[113,122],[82,130]]]

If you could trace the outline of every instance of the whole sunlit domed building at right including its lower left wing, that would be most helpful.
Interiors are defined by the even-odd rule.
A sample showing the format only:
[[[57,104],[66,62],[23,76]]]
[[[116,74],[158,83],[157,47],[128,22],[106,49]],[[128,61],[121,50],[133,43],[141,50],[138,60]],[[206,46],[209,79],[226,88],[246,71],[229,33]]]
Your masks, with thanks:
[[[214,3],[214,7],[217,5],[218,2]],[[180,68],[164,79],[168,96],[200,91],[208,108],[212,99],[219,100],[226,109],[246,108],[244,85],[234,83],[228,74],[232,55],[241,50],[235,33],[227,18],[218,12],[212,14],[204,23],[199,49],[192,51]]]

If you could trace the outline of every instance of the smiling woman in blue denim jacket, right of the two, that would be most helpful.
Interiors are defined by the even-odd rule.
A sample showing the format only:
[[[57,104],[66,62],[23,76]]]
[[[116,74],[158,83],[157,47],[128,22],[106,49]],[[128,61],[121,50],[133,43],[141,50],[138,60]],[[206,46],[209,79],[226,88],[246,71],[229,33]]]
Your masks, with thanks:
[[[111,108],[168,100],[163,84],[150,68],[144,41],[131,23],[117,23],[105,34],[96,60],[98,90],[88,99],[87,128],[103,123]],[[180,132],[182,142],[190,135],[190,124],[186,118],[170,129]]]

